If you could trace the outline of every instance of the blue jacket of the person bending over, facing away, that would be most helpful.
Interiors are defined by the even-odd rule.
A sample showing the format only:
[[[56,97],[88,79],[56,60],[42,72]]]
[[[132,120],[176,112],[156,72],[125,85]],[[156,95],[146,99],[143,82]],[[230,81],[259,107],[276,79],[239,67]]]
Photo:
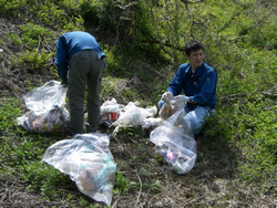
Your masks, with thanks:
[[[81,50],[91,49],[101,52],[94,37],[88,32],[74,31],[62,34],[57,42],[55,65],[62,81],[68,80],[68,63],[70,58]]]

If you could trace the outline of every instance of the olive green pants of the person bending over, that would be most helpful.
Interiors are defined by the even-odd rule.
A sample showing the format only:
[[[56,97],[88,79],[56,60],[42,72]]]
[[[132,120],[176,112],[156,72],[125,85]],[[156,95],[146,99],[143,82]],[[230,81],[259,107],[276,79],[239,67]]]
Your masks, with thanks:
[[[100,91],[104,61],[98,59],[98,51],[83,50],[75,53],[69,63],[69,107],[70,133],[85,133],[84,129],[84,100],[88,86],[86,132],[96,132],[100,119]]]

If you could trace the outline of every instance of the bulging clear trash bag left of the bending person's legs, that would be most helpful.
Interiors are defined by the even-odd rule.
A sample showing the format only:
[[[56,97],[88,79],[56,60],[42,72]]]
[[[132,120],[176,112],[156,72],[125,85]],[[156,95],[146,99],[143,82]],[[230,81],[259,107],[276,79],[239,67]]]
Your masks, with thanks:
[[[68,87],[52,80],[28,92],[23,101],[30,111],[18,117],[18,125],[31,133],[65,131],[70,121],[65,108],[66,91]]]

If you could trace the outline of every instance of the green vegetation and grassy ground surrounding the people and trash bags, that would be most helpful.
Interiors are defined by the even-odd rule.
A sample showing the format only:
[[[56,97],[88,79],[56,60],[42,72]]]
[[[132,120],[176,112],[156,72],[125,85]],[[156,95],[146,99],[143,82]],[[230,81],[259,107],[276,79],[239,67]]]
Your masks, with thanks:
[[[191,39],[218,72],[216,115],[186,175],[167,170],[140,127],[111,139],[111,207],[277,206],[277,2],[273,0],[0,0],[0,207],[107,207],[41,162],[66,135],[17,126],[22,95],[50,80],[64,32],[107,54],[102,101],[156,105]]]

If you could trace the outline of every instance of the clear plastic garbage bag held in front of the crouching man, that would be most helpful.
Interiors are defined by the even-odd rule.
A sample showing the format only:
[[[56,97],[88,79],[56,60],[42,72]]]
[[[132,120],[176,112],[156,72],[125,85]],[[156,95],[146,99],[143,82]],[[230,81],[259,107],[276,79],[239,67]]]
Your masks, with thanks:
[[[188,173],[194,167],[197,154],[197,144],[189,123],[184,119],[185,114],[184,107],[177,110],[150,134],[155,152],[177,174]]]

